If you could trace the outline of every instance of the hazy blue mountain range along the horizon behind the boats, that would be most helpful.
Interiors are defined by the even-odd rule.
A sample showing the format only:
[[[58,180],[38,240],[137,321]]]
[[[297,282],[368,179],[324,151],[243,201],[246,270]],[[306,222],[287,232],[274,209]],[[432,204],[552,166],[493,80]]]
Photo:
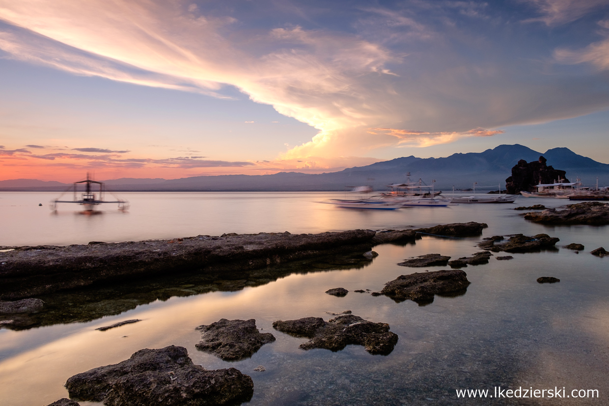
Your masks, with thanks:
[[[417,158],[406,156],[352,167],[340,172],[308,174],[280,172],[273,175],[218,175],[172,180],[121,178],[105,183],[113,191],[343,191],[347,186],[369,184],[376,190],[385,185],[406,181],[406,173],[415,181],[421,178],[437,189],[449,190],[501,184],[512,174],[512,167],[520,160],[537,161],[543,155],[547,164],[565,170],[571,181],[580,178],[584,184],[609,186],[609,164],[577,155],[568,148],[554,148],[545,153],[524,145],[499,145],[484,152],[454,153],[446,158]],[[65,190],[69,185],[37,180],[0,181],[0,191]]]

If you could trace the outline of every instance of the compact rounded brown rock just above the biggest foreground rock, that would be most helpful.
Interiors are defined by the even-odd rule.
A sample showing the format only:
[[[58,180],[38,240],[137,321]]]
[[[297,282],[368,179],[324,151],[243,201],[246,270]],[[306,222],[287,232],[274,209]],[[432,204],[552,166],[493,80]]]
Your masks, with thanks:
[[[256,320],[227,320],[221,318],[211,324],[196,327],[202,340],[195,344],[197,349],[214,354],[225,361],[251,357],[262,345],[275,341],[270,333],[256,329]]]

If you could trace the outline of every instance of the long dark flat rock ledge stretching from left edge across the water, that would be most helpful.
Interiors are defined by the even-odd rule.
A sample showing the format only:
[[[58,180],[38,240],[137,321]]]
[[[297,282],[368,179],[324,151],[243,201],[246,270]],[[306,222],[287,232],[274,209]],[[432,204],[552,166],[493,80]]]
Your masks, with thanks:
[[[0,300],[188,271],[202,274],[253,270],[325,254],[354,250],[364,253],[379,243],[414,242],[421,233],[475,236],[485,226],[470,222],[401,231],[231,233],[67,247],[0,247]]]

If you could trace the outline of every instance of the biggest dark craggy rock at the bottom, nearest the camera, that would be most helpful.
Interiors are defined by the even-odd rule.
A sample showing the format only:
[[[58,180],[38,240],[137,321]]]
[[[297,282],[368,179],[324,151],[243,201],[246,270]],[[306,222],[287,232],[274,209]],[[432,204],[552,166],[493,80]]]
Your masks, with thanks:
[[[247,402],[252,378],[235,368],[208,371],[184,347],[141,349],[130,359],[74,375],[72,398],[106,406],[199,406]]]

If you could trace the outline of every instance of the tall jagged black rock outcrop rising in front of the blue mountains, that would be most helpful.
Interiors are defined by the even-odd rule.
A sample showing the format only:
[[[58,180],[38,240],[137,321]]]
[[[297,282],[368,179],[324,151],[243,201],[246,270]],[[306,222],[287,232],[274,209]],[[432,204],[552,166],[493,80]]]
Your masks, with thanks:
[[[514,195],[520,191],[535,192],[538,183],[554,183],[561,179],[565,182],[564,170],[554,169],[546,165],[546,158],[540,156],[538,161],[527,163],[524,159],[512,167],[512,176],[505,180],[505,189],[508,194]]]

